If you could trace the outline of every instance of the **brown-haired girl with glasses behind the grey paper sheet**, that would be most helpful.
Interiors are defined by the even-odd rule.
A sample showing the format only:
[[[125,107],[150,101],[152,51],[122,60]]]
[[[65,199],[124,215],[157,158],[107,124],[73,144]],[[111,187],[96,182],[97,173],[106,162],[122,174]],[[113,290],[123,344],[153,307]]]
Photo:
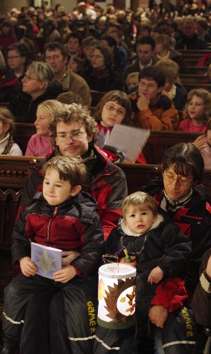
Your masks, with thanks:
[[[96,106],[94,118],[97,121],[99,131],[103,130],[104,134],[112,131],[115,124],[130,124],[131,120],[131,103],[130,98],[122,91],[109,91],[101,98]],[[110,159],[117,160],[118,156],[115,153],[110,155]],[[145,163],[143,153],[140,153],[137,162]]]

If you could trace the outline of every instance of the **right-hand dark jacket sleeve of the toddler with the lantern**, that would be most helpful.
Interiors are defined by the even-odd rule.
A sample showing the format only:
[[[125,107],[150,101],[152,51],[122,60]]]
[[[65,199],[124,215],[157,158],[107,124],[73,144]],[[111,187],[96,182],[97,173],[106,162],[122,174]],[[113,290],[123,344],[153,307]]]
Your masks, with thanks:
[[[190,259],[190,239],[181,232],[179,226],[170,223],[163,227],[161,244],[165,245],[165,248],[159,267],[167,277],[179,276]]]

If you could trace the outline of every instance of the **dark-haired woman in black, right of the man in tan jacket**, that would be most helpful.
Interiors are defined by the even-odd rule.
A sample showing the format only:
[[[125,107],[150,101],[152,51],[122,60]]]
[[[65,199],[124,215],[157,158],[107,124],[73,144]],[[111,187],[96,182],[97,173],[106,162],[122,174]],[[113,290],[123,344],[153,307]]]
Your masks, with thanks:
[[[91,90],[110,91],[122,90],[121,75],[112,67],[112,57],[107,48],[96,46],[91,59],[91,66],[83,71],[81,76],[86,80]]]

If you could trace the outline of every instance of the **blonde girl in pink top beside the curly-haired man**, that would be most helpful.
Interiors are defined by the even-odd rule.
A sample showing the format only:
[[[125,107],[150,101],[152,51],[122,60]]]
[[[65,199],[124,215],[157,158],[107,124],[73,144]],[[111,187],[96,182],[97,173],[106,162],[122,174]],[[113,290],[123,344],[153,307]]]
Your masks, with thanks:
[[[46,156],[52,150],[54,140],[48,125],[54,113],[62,106],[63,104],[57,100],[48,100],[39,104],[36,113],[37,119],[34,122],[37,133],[28,141],[26,156]]]

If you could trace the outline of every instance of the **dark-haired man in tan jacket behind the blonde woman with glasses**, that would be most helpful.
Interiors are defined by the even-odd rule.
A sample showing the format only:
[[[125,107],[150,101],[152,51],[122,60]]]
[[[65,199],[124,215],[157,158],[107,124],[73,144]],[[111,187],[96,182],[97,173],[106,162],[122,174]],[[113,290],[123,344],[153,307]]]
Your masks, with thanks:
[[[83,77],[72,72],[68,68],[69,56],[63,44],[58,42],[50,42],[44,48],[46,63],[48,63],[57,81],[63,87],[63,91],[72,91],[74,94],[80,95],[83,104],[90,106],[91,95],[90,88]]]

